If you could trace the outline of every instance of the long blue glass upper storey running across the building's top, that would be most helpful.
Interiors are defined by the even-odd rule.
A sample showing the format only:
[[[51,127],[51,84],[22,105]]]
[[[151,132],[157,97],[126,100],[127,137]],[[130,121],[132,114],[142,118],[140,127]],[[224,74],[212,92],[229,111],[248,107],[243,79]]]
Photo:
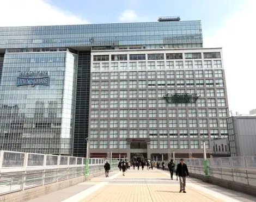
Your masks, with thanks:
[[[1,27],[0,48],[127,46],[202,47],[201,21]]]

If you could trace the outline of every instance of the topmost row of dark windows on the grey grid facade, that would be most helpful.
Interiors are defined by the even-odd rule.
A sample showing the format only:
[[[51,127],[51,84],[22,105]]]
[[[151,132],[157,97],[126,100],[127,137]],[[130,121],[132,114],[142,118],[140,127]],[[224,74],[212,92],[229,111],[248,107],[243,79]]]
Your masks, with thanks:
[[[119,54],[119,55],[94,55],[93,61],[109,61],[111,58],[112,61],[116,60],[164,60],[164,55],[166,55],[167,60],[180,60],[180,59],[202,59],[202,53],[159,53],[159,54]],[[212,53],[203,53],[204,59],[212,59],[212,58],[221,58],[220,52],[212,52]]]

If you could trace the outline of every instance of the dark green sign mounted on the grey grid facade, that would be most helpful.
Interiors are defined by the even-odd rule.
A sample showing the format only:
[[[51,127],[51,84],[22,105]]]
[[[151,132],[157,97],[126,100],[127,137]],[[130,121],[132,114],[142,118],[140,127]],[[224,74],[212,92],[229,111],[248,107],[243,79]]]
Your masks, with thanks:
[[[168,103],[195,103],[199,97],[197,93],[168,93],[163,96]]]

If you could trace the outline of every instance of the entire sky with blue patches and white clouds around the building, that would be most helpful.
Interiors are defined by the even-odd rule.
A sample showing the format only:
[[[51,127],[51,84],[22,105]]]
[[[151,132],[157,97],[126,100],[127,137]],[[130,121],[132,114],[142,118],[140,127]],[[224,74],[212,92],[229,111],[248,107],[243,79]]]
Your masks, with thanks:
[[[5,0],[0,27],[202,20],[204,47],[223,47],[229,109],[248,113],[256,108],[255,10],[256,0]]]

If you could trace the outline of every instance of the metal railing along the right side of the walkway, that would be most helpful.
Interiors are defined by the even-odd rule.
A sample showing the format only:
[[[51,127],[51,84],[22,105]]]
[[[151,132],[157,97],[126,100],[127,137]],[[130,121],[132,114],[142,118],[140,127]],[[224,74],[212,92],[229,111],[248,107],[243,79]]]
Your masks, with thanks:
[[[256,186],[256,156],[184,159],[190,173]],[[179,160],[175,160],[177,165]],[[168,161],[164,161],[168,165]],[[160,164],[162,167],[162,165]]]

